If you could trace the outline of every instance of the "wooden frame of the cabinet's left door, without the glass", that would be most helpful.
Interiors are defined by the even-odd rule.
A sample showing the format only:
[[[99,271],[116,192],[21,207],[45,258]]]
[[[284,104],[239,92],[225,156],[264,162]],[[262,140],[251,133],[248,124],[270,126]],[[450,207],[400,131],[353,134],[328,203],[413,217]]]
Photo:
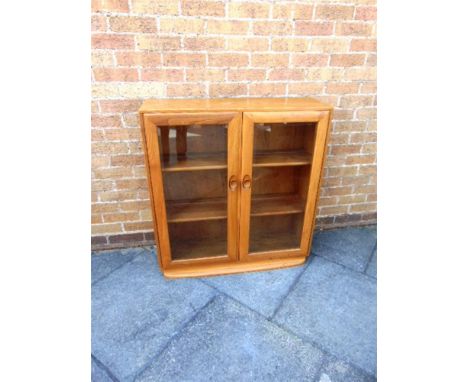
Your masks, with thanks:
[[[240,112],[171,112],[171,113],[143,113],[141,115],[144,132],[144,149],[147,162],[149,188],[151,191],[152,212],[155,228],[155,240],[158,243],[158,259],[163,269],[184,266],[188,264],[204,264],[238,260],[238,213],[239,192],[230,192],[229,179],[240,177],[240,141],[242,113]],[[190,124],[227,124],[227,257],[202,258],[193,260],[172,260],[169,240],[169,226],[167,221],[164,183],[157,126],[180,126]]]

